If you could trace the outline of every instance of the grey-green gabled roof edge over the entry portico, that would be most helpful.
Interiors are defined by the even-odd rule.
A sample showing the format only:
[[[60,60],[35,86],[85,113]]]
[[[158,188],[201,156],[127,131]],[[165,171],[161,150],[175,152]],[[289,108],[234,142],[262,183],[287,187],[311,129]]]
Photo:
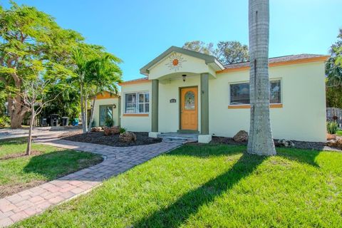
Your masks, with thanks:
[[[165,58],[167,55],[169,55],[172,52],[182,53],[182,54],[187,55],[187,56],[200,58],[200,59],[204,60],[206,64],[214,63],[214,65],[217,66],[217,68],[219,68],[220,70],[224,69],[224,65],[214,56],[209,56],[207,54],[199,53],[197,51],[190,51],[190,50],[187,50],[185,48],[179,48],[176,46],[171,46],[166,51],[164,51],[159,56],[157,56],[157,58],[153,59],[152,61],[150,61],[150,63],[147,63],[144,67],[142,67],[140,69],[140,73],[147,76],[148,73],[150,73],[149,69],[152,66],[154,66],[156,63],[159,63],[160,61],[162,61],[163,58]]]

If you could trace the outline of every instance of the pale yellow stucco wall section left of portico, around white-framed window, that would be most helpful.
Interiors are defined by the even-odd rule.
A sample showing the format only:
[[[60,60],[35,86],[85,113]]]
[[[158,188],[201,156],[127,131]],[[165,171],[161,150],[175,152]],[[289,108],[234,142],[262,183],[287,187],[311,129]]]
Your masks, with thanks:
[[[150,132],[151,130],[151,89],[152,83],[143,82],[121,86],[121,126],[130,131]],[[149,92],[150,93],[150,113],[147,116],[125,116],[125,93]]]

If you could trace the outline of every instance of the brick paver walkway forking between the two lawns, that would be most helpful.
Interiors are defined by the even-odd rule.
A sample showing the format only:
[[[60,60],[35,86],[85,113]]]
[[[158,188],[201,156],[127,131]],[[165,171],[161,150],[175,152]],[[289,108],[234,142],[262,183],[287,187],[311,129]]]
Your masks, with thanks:
[[[42,143],[97,153],[103,155],[105,160],[93,167],[0,199],[0,227],[9,226],[33,214],[41,213],[48,207],[84,194],[107,178],[180,146],[180,143],[175,142],[160,142],[135,147],[110,147],[68,140]]]

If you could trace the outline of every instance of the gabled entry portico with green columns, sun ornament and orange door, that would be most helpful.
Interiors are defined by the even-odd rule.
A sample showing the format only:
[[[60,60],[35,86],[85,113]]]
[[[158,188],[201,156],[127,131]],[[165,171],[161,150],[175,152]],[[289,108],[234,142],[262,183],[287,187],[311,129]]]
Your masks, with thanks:
[[[224,67],[213,56],[172,46],[140,73],[152,81],[151,132],[200,133],[209,142],[209,79]]]

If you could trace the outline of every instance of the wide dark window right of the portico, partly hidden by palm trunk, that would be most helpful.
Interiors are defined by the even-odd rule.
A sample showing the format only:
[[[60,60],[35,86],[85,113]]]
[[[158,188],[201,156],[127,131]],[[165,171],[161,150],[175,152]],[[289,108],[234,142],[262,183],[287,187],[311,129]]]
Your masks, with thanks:
[[[281,81],[272,80],[269,82],[269,103],[281,103]],[[230,85],[230,105],[248,105],[249,83],[237,83]]]

